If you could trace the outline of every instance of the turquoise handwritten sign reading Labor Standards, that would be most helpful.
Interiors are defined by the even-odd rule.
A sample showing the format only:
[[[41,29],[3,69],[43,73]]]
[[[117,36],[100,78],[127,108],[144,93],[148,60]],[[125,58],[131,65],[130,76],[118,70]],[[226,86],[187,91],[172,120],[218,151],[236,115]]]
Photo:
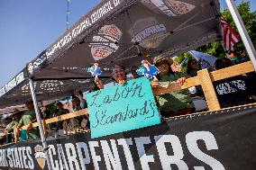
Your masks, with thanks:
[[[160,115],[145,77],[87,94],[92,138],[160,123]]]

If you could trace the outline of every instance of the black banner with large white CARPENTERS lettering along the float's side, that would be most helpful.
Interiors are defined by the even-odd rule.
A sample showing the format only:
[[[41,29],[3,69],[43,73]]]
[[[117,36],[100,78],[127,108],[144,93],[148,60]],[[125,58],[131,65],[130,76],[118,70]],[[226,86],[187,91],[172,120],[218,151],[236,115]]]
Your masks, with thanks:
[[[98,139],[48,139],[50,163],[53,170],[256,169],[255,111],[206,112]],[[41,141],[1,147],[0,169],[48,169]]]

